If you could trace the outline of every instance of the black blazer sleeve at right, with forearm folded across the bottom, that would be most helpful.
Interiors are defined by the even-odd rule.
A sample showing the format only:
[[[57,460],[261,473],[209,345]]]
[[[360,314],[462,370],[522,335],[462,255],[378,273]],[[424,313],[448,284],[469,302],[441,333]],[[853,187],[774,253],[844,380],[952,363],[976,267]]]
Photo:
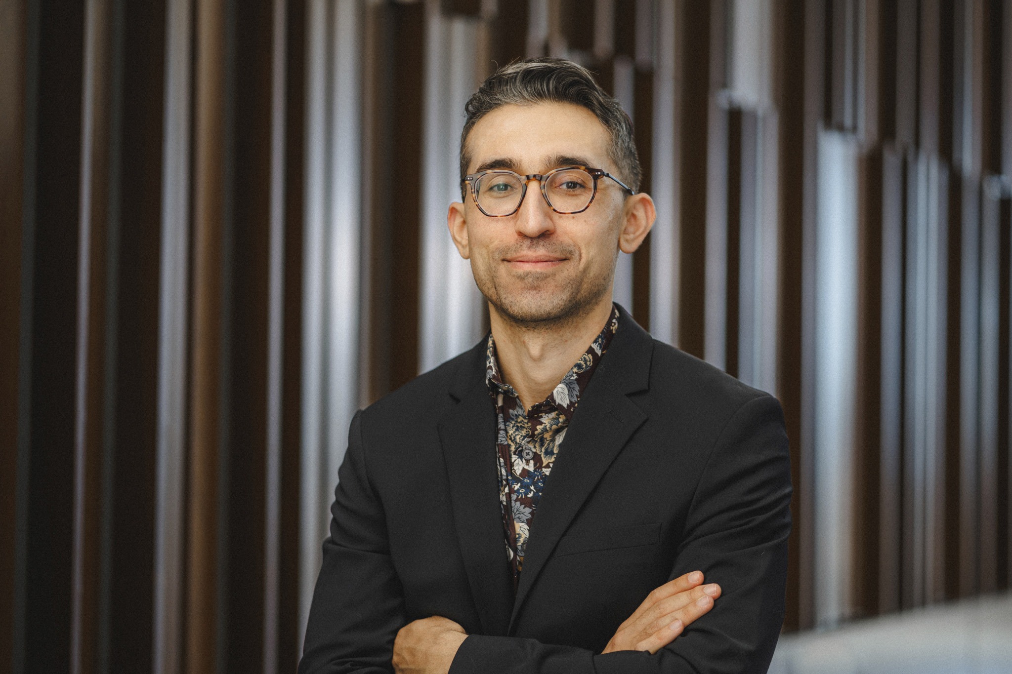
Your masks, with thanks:
[[[743,404],[710,451],[670,578],[700,570],[721,585],[713,608],[651,655],[599,655],[530,639],[471,636],[450,674],[743,674],[769,668],[783,622],[790,534],[783,413],[763,395]]]

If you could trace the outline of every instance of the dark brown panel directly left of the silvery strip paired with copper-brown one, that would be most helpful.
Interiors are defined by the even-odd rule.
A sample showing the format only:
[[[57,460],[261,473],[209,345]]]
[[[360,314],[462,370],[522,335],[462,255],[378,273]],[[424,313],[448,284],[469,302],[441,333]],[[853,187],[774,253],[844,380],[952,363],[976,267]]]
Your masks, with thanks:
[[[122,3],[110,153],[104,568],[98,671],[153,666],[165,3]]]

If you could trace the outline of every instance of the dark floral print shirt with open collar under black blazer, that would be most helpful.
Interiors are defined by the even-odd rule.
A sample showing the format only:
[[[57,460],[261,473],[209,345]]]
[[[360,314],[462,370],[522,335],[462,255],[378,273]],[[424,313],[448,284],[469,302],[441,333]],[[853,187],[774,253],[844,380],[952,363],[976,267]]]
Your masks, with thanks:
[[[512,386],[503,381],[496,343],[489,335],[485,380],[496,403],[499,503],[506,534],[506,556],[513,570],[513,587],[523,569],[524,549],[544,481],[566,438],[566,428],[580,394],[618,329],[618,309],[580,360],[570,368],[547,398],[526,412]]]

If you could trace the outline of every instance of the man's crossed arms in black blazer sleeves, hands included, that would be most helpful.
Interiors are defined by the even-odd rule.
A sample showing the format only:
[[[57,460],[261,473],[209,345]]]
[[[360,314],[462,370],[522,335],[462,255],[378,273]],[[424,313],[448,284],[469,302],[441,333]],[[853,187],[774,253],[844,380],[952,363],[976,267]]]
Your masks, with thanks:
[[[769,666],[783,619],[790,532],[790,469],[774,398],[754,398],[728,421],[682,526],[673,581],[651,593],[602,654],[532,639],[468,636],[441,618],[406,625],[404,588],[391,562],[384,509],[366,477],[360,414],[349,436],[300,674],[378,674],[392,667],[411,672],[411,667],[426,671],[429,666],[451,674],[730,674],[765,672]],[[723,598],[707,602],[705,610],[687,611],[691,602],[686,599],[701,592],[695,580],[685,577],[695,569],[708,583],[720,584]],[[705,619],[685,631],[703,613]],[[667,625],[675,618],[682,625],[666,635],[665,622],[672,616]],[[433,640],[442,646],[415,647]]]

